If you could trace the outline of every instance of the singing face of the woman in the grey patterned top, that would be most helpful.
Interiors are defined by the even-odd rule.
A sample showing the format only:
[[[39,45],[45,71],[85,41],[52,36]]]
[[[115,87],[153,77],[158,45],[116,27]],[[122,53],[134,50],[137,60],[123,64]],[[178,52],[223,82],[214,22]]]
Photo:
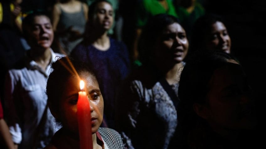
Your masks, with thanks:
[[[173,63],[182,62],[187,55],[189,42],[186,32],[178,23],[168,25],[155,43],[155,57]]]

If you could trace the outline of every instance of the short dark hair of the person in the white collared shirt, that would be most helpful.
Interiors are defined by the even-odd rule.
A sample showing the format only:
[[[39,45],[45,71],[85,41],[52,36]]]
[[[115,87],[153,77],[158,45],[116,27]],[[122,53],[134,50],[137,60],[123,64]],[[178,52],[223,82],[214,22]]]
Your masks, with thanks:
[[[29,27],[32,27],[33,23],[34,23],[34,18],[36,16],[46,16],[50,19],[48,13],[45,11],[33,11],[31,13],[29,13],[23,20],[22,20],[22,32],[23,32],[23,36],[25,37],[25,39],[27,40],[29,37],[29,33],[28,33],[28,29]]]

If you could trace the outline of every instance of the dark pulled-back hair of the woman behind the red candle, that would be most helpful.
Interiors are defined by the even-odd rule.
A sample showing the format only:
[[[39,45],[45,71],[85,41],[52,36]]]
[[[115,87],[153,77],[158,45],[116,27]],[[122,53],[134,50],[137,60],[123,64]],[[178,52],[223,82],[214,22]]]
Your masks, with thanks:
[[[53,71],[49,75],[47,81],[46,95],[48,97],[47,102],[49,102],[49,108],[54,111],[59,107],[59,100],[67,86],[66,81],[70,77],[78,76],[81,72],[89,72],[97,79],[90,64],[81,62],[69,56],[61,57],[56,62],[53,62],[51,66]],[[59,122],[59,120],[56,121]]]

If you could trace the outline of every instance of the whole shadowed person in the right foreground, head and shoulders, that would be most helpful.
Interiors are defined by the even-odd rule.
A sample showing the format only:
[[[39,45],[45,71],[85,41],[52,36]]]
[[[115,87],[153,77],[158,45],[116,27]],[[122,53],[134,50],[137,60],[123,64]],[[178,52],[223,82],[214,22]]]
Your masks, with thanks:
[[[178,87],[178,127],[169,148],[258,148],[253,92],[236,58],[195,52]]]

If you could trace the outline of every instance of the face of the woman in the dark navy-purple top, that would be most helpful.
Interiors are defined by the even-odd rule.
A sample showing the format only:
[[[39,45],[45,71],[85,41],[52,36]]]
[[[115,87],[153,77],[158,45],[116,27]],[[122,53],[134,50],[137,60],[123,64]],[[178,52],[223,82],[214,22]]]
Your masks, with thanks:
[[[94,26],[109,30],[113,25],[113,20],[113,7],[107,2],[98,3],[93,18]]]

